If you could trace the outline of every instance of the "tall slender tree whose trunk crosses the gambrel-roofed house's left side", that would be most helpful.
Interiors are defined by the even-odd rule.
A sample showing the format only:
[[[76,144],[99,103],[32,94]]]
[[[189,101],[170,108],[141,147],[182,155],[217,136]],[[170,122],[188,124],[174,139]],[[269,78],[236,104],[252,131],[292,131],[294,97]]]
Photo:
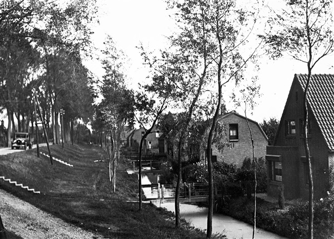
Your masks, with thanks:
[[[214,118],[207,143],[210,186],[207,237],[210,238],[213,212],[211,145],[222,101],[222,85],[242,79],[244,66],[254,57],[252,52],[249,56],[242,56],[240,49],[246,43],[257,15],[256,12],[254,14],[238,8],[234,1],[184,1],[182,3],[171,1],[171,3],[178,10],[180,24],[189,28],[189,31],[181,34],[181,38],[186,40],[183,47],[196,49],[195,52],[207,56],[201,68],[210,72],[206,75],[208,77],[206,79],[215,79],[211,86],[216,85],[214,87],[217,89],[209,95],[209,98],[215,99],[213,102],[216,104],[213,107]],[[198,58],[198,61],[200,62],[201,59]],[[210,67],[206,68],[209,64]]]

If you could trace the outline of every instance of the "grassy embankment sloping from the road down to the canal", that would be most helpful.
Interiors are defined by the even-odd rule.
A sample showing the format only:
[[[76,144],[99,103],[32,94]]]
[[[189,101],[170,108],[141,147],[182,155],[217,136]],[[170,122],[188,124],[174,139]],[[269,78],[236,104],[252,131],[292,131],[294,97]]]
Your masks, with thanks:
[[[175,229],[174,214],[150,204],[138,211],[137,175],[128,175],[131,168],[120,160],[116,171],[116,192],[109,182],[108,162],[104,152],[95,146],[52,145],[52,156],[73,164],[68,167],[49,158],[36,157],[36,150],[18,151],[1,156],[0,175],[41,191],[28,192],[0,181],[0,187],[28,203],[85,230],[106,238],[205,238],[203,231],[183,222]],[[41,148],[48,153],[47,148]],[[105,160],[94,162],[94,160]],[[101,200],[102,199],[102,200]],[[20,237],[17,237],[20,238]]]

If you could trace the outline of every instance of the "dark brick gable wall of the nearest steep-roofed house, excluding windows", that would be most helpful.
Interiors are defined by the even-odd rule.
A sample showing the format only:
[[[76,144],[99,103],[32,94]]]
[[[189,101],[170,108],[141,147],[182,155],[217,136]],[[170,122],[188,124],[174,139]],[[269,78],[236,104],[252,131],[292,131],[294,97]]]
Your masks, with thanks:
[[[296,95],[298,95],[296,97]],[[279,132],[277,133],[277,139],[275,146],[296,146],[298,147],[298,163],[293,167],[298,169],[298,173],[294,177],[298,176],[299,182],[299,196],[308,198],[308,184],[305,179],[305,156],[304,137],[301,135],[302,125],[300,119],[304,118],[303,110],[303,90],[301,86],[294,80],[290,89],[290,94],[287,99],[287,105],[285,112],[281,118]],[[308,137],[310,155],[312,156],[312,169],[313,169],[313,183],[314,183],[314,198],[323,197],[328,190],[328,147],[325,139],[317,124],[316,118],[314,118],[309,108],[309,119],[311,120],[311,134]],[[285,132],[285,121],[294,120],[295,135],[289,136]],[[267,151],[268,154],[268,151]],[[283,169],[282,169],[283,171]],[[286,182],[287,184],[289,181]]]

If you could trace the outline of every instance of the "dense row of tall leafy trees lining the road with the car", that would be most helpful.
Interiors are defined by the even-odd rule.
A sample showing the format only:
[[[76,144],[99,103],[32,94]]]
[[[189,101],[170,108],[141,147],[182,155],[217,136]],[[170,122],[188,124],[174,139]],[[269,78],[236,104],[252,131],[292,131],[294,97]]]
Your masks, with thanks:
[[[0,108],[8,116],[8,144],[15,128],[34,131],[33,89],[54,143],[60,142],[61,109],[67,141],[75,120],[90,118],[90,72],[82,56],[96,12],[94,0],[0,3]]]

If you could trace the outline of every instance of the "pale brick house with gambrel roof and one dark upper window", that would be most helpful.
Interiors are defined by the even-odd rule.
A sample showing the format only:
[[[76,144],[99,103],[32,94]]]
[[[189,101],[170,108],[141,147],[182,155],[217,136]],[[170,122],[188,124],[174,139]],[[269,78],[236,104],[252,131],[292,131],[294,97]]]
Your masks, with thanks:
[[[252,157],[252,144],[250,133],[245,116],[235,112],[220,115],[217,122],[224,124],[227,128],[226,136],[229,146],[224,146],[221,154],[216,146],[212,145],[212,162],[224,160],[227,163],[234,163],[236,167],[241,167],[245,157]],[[255,157],[265,157],[268,138],[259,124],[248,119],[254,139]],[[206,152],[201,152],[200,158],[206,160]]]

